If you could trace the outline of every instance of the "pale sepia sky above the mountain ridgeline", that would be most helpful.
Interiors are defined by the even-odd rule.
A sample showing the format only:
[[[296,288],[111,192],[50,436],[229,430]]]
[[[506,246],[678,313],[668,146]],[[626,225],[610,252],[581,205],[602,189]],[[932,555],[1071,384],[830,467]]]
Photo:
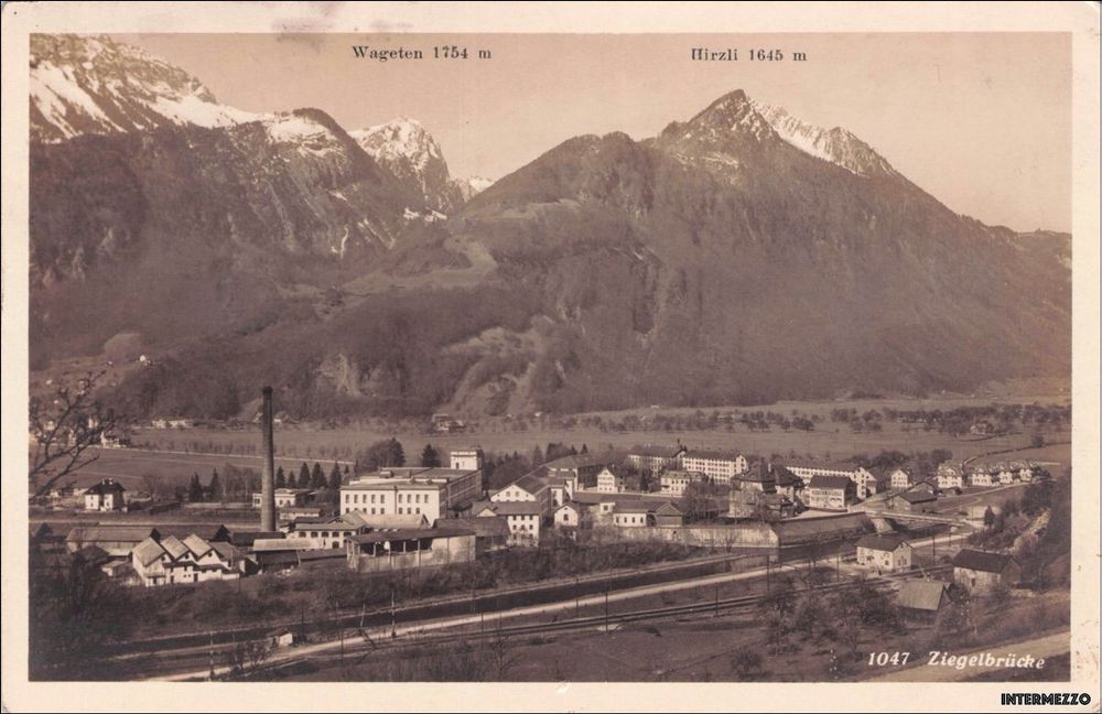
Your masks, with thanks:
[[[114,35],[250,111],[317,107],[348,130],[398,116],[440,142],[454,175],[499,178],[583,133],[653,136],[716,97],[759,101],[861,137],[955,212],[1018,230],[1071,228],[1067,34]],[[421,50],[354,57],[350,45]],[[466,61],[432,58],[466,46]],[[692,62],[692,47],[738,62]],[[779,48],[786,61],[750,62]],[[493,53],[477,60],[478,50]],[[807,54],[792,62],[792,52]]]

